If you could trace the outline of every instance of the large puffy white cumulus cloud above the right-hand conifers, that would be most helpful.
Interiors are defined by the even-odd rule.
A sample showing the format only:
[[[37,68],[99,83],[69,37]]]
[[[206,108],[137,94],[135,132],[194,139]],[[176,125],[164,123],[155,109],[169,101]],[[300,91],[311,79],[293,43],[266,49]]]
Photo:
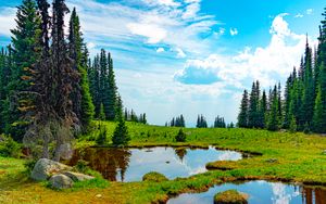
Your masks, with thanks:
[[[279,14],[274,18],[267,47],[248,47],[236,55],[211,54],[203,60],[189,60],[174,78],[184,84],[223,81],[236,88],[243,88],[248,80],[259,79],[263,87],[273,86],[277,82],[273,78],[286,77],[300,63],[305,46],[305,35],[292,33],[286,16]]]

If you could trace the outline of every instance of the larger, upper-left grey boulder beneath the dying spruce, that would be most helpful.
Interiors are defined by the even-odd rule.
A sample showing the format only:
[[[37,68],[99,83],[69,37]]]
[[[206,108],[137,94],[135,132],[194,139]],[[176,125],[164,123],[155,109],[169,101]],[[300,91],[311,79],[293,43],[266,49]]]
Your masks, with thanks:
[[[34,166],[30,178],[37,181],[48,180],[51,175],[71,170],[72,167],[48,158],[40,158]]]

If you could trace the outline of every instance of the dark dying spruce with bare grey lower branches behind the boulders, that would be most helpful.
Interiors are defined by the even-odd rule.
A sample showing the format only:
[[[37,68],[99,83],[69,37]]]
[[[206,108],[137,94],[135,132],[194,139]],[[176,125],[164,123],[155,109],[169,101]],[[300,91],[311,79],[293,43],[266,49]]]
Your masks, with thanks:
[[[45,1],[39,1],[45,3]],[[45,3],[46,4],[46,3]],[[41,13],[48,12],[48,7],[40,7]],[[52,8],[51,27],[48,21],[42,21],[41,28],[51,28],[51,47],[49,54],[47,47],[42,48],[40,60],[30,68],[32,87],[28,93],[33,94],[37,103],[26,112],[30,125],[25,133],[24,142],[27,145],[41,145],[42,157],[52,157],[49,146],[54,145],[53,160],[59,161],[61,145],[70,143],[74,129],[78,129],[78,118],[73,112],[71,94],[73,81],[79,80],[78,73],[73,68],[73,62],[67,55],[67,44],[64,38],[64,16],[68,12],[64,0],[54,0]],[[45,16],[48,14],[45,14]],[[48,30],[42,30],[48,34]],[[41,38],[41,44],[47,38]]]

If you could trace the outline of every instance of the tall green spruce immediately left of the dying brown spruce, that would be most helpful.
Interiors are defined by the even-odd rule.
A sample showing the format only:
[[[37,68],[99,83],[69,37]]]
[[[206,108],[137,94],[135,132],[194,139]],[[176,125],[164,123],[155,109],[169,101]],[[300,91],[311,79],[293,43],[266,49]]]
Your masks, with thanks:
[[[34,0],[23,0],[17,7],[16,27],[12,33],[12,61],[11,76],[8,84],[7,107],[4,117],[5,132],[15,140],[22,141],[26,130],[26,122],[23,114],[33,103],[32,98],[22,94],[30,87],[30,74],[27,72],[40,58],[40,17],[37,14],[37,5]]]

